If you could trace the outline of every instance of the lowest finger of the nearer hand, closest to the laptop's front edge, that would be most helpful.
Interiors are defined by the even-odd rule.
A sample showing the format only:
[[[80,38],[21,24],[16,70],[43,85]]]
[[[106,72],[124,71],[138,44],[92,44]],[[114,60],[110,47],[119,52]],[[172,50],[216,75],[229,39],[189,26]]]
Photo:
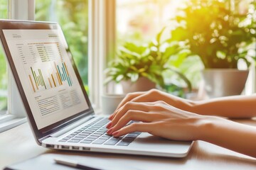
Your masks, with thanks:
[[[153,128],[154,123],[132,123],[131,125],[127,125],[124,128],[113,132],[112,135],[114,137],[119,137],[131,132],[151,132]]]

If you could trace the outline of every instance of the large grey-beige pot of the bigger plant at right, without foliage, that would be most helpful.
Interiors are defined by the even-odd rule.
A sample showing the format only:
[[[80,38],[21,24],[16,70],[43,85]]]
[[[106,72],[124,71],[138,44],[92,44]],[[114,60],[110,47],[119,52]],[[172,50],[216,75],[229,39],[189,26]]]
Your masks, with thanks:
[[[240,95],[248,73],[248,70],[238,69],[204,69],[204,88],[210,98]]]

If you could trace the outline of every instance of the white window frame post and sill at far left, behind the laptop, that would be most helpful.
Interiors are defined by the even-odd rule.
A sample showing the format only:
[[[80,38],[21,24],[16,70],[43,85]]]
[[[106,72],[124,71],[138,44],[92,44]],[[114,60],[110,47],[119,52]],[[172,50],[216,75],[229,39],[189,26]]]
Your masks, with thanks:
[[[24,11],[27,11],[24,12]],[[9,0],[8,1],[8,19],[12,20],[33,20],[35,16],[34,0]],[[8,74],[8,96],[7,111],[1,116],[0,132],[9,130],[26,122],[26,111],[21,101],[14,76],[7,63]]]

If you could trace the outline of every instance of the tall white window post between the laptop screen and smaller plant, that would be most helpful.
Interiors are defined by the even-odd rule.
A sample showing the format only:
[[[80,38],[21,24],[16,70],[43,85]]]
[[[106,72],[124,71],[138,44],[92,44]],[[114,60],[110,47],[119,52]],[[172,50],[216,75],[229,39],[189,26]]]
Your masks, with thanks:
[[[115,8],[115,0],[89,0],[88,86],[96,113],[102,106],[101,96],[112,88],[104,86],[104,69],[115,52]]]

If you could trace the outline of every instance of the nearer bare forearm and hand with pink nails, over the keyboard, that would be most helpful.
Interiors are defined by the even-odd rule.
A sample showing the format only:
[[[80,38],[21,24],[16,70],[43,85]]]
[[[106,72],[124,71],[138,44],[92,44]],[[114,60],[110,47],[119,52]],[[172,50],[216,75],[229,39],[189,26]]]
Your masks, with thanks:
[[[130,120],[140,122],[124,126]],[[115,137],[141,131],[171,140],[203,140],[256,158],[255,127],[190,113],[164,101],[128,102],[119,108],[107,128]]]

